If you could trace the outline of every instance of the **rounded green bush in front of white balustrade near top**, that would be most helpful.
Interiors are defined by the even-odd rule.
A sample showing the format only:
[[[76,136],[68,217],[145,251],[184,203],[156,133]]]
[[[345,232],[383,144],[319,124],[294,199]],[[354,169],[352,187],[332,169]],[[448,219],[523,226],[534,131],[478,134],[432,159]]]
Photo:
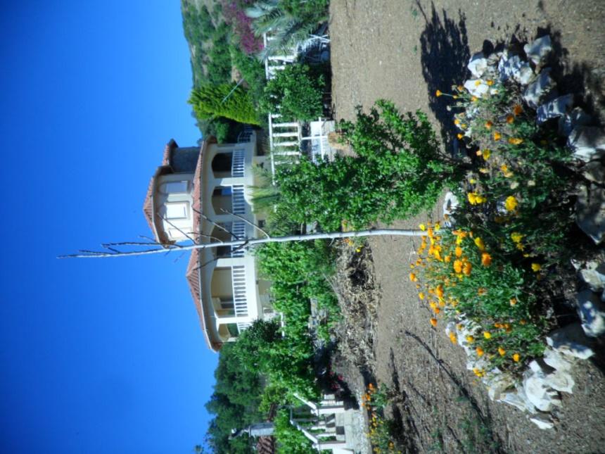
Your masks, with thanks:
[[[279,113],[284,120],[315,120],[324,111],[325,84],[324,76],[314,73],[308,65],[287,65],[267,82],[260,109]]]

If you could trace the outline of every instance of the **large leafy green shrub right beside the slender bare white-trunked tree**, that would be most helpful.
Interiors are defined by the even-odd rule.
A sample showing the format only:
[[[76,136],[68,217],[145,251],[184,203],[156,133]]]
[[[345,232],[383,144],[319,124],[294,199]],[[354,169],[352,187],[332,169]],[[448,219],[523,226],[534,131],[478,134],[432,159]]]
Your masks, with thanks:
[[[318,165],[303,158],[276,172],[278,208],[295,222],[318,221],[327,231],[343,220],[353,228],[392,222],[431,208],[442,187],[460,178],[424,113],[402,115],[393,103],[378,101],[340,128],[357,156]]]

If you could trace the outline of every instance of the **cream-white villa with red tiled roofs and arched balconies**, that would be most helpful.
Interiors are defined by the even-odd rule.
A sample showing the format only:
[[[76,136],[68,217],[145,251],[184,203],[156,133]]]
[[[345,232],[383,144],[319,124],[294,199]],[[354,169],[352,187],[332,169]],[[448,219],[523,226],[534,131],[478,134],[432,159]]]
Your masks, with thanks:
[[[257,156],[254,132],[237,144],[179,147],[170,140],[162,165],[151,178],[143,211],[155,241],[207,243],[253,238],[252,224],[262,223],[250,204]],[[231,246],[196,249],[186,272],[208,346],[218,351],[224,342],[259,318],[274,315],[269,282],[258,279],[255,258]]]

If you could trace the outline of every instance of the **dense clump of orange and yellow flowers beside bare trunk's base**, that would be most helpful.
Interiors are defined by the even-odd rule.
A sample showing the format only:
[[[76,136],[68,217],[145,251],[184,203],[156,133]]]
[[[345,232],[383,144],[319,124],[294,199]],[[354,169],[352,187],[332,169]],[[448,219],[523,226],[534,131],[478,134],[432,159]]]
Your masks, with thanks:
[[[461,336],[478,358],[507,370],[520,370],[521,359],[541,355],[548,327],[537,315],[535,296],[528,292],[537,267],[514,266],[490,237],[476,232],[435,232],[431,224],[425,228],[427,236],[422,237],[416,251],[419,259],[413,264],[414,282],[420,283],[421,302],[433,314],[431,324],[436,327],[439,317],[461,320],[464,315],[478,327],[476,332],[466,336],[450,332],[450,341],[457,343]]]

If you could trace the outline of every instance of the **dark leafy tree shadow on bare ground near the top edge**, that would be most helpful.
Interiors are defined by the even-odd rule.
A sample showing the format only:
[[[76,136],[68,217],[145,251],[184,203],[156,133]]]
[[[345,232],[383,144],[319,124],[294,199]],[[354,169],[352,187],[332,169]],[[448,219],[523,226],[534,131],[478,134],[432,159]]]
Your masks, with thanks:
[[[419,2],[417,8],[426,21],[420,35],[422,75],[428,89],[428,107],[440,122],[441,137],[445,144],[452,144],[457,131],[452,123],[452,113],[447,102],[438,99],[435,92],[450,92],[452,84],[460,84],[466,76],[466,64],[471,57],[466,36],[466,18],[458,11],[458,21],[451,19],[445,10],[442,18],[431,3],[430,16]]]

